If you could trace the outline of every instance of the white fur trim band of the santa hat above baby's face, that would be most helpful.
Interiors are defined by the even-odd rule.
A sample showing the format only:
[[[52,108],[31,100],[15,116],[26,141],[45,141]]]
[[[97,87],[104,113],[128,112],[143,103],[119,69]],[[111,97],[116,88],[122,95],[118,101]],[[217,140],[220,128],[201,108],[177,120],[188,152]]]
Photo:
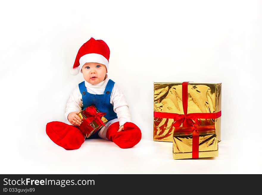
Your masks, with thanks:
[[[82,56],[80,59],[79,59],[79,66],[78,67],[81,67],[80,68],[80,71],[82,70],[82,66],[87,63],[87,62],[96,62],[96,63],[99,63],[99,64],[105,64],[106,68],[107,68],[107,71],[108,71],[108,61],[107,61],[107,58],[105,58],[104,56],[102,56],[101,54],[98,54],[98,53],[88,53],[88,54],[85,54],[84,56]]]

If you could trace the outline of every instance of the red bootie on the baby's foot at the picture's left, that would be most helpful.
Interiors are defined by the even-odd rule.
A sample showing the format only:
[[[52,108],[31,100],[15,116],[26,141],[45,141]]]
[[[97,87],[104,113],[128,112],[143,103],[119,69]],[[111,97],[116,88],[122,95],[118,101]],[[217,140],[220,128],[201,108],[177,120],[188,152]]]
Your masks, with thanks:
[[[59,121],[47,123],[46,134],[55,144],[66,150],[78,149],[85,141],[85,136],[77,127]]]

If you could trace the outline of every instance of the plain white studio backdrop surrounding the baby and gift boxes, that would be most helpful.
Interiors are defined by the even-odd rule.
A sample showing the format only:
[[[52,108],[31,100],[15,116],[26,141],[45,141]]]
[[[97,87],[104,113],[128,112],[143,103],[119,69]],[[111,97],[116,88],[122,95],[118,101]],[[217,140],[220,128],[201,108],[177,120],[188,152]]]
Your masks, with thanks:
[[[1,174],[261,174],[261,1],[4,1],[0,8]],[[64,121],[90,37],[110,47],[109,77],[142,131],[134,148],[46,135]],[[153,141],[153,83],[222,82],[215,158],[174,160]]]

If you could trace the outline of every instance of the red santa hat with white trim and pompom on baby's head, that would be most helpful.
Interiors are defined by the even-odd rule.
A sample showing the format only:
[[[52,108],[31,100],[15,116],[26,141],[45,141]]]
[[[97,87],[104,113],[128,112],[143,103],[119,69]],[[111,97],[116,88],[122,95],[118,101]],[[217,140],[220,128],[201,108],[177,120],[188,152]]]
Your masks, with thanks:
[[[82,66],[87,62],[105,64],[108,71],[110,50],[103,40],[96,40],[93,37],[85,42],[78,50],[77,57],[71,74],[77,75],[82,72]]]

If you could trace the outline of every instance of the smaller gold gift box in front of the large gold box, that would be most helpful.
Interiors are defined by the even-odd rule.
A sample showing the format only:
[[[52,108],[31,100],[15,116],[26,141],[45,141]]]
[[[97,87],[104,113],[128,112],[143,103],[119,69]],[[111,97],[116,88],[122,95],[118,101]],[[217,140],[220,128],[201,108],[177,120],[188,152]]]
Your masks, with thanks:
[[[197,131],[195,135],[193,133],[194,131],[192,130],[194,128],[192,127],[175,128],[173,134],[174,159],[206,158],[218,156],[218,141],[215,128],[208,129],[205,128],[205,126],[200,126],[199,128],[201,129],[202,127],[203,129]]]

